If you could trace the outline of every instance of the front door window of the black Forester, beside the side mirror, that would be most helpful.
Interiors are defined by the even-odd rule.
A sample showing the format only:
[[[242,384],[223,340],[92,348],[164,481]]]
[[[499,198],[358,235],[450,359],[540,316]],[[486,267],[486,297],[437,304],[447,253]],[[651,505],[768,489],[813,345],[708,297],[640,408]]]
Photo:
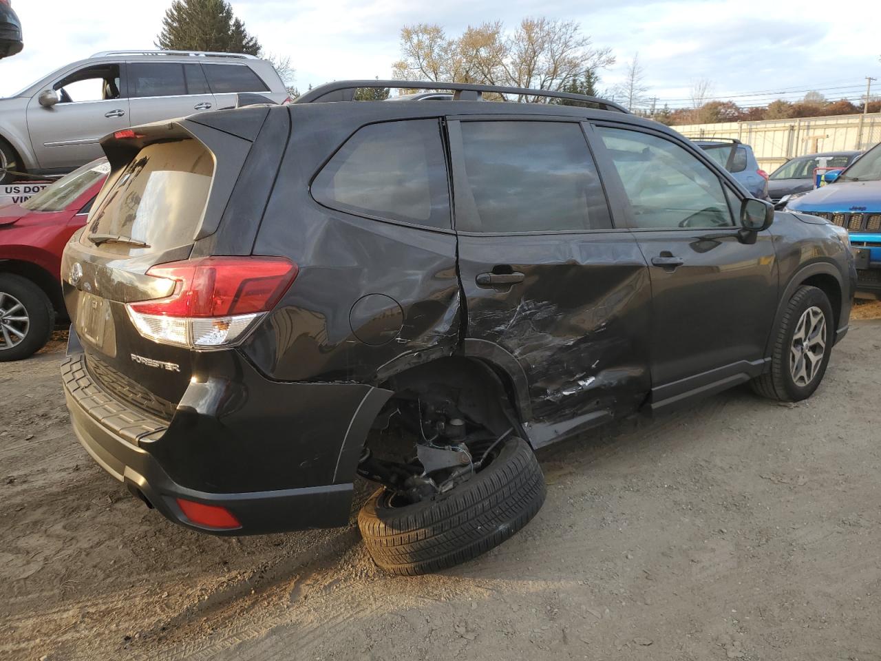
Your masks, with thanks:
[[[732,227],[722,182],[682,147],[648,133],[597,127],[636,227]]]

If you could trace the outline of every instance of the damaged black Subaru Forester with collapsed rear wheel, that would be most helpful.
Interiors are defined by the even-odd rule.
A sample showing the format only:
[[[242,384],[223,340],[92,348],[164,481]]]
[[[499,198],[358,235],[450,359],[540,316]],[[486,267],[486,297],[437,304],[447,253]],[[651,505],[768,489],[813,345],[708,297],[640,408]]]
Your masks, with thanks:
[[[360,475],[374,560],[445,568],[536,514],[535,449],[743,382],[809,397],[848,330],[847,232],[608,100],[344,81],[102,145],[63,258],[67,405],[202,531],[347,524]]]

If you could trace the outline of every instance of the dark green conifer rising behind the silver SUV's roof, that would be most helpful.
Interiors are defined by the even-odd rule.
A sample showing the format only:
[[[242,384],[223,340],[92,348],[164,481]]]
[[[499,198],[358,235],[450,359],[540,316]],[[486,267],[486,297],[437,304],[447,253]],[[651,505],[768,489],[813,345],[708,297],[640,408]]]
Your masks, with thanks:
[[[174,0],[162,19],[156,46],[254,56],[261,50],[225,0]]]

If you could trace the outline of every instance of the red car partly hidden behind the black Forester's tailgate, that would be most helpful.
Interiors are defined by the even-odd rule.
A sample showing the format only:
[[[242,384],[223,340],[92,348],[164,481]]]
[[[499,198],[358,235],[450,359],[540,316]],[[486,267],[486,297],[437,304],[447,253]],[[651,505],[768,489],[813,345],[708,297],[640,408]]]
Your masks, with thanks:
[[[21,204],[0,206],[0,361],[39,351],[56,316],[67,316],[61,254],[109,171],[107,159],[93,160]]]

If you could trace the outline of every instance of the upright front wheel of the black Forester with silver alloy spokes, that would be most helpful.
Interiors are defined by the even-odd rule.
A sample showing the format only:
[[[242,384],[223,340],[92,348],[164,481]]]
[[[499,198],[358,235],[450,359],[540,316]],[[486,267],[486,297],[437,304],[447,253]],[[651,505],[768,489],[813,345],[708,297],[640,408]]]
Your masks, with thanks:
[[[814,394],[833,345],[834,316],[822,289],[802,286],[789,299],[771,355],[771,370],[752,380],[752,390],[781,402]]]

